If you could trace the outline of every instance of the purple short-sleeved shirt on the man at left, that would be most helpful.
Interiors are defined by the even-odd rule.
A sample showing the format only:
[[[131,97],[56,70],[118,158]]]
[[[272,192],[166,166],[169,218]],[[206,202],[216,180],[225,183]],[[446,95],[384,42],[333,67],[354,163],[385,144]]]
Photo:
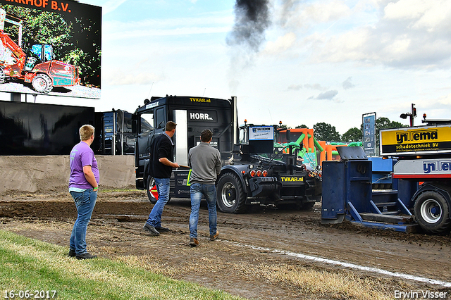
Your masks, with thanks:
[[[83,173],[83,166],[85,165],[91,166],[92,173],[94,173],[97,184],[99,184],[99,168],[94,157],[94,151],[85,142],[80,142],[73,146],[72,151],[70,151],[69,188],[92,189],[92,185],[89,185],[85,173]]]

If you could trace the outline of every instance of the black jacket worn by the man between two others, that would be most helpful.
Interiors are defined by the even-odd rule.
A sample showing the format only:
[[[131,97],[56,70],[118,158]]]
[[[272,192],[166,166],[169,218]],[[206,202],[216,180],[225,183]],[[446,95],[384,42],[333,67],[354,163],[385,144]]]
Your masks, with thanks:
[[[166,157],[169,161],[174,159],[174,145],[167,135],[158,135],[152,143],[151,161],[150,161],[150,175],[154,178],[170,178],[172,167],[163,165],[159,159]]]

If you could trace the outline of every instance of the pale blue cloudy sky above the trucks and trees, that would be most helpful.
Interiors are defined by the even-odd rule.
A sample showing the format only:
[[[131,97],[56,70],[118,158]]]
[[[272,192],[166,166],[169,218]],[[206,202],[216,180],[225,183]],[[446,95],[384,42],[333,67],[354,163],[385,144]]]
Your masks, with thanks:
[[[237,96],[240,124],[362,114],[451,119],[449,0],[80,0],[102,7],[101,99],[37,102],[134,112],[150,96]],[[239,0],[240,3],[246,0]],[[2,99],[9,100],[6,93]]]

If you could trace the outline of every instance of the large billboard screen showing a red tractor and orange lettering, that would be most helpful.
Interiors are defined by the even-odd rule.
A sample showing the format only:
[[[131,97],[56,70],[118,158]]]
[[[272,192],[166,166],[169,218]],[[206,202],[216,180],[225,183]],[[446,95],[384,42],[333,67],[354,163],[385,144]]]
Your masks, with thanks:
[[[100,98],[101,7],[0,0],[0,92]]]

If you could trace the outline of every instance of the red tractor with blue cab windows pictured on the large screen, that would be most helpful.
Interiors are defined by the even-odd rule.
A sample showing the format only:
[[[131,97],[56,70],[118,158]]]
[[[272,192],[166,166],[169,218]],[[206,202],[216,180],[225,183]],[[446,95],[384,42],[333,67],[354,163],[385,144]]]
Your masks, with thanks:
[[[36,92],[47,94],[53,87],[80,84],[78,67],[56,61],[51,45],[34,44],[30,54],[0,30],[0,84],[7,78],[31,83]]]

